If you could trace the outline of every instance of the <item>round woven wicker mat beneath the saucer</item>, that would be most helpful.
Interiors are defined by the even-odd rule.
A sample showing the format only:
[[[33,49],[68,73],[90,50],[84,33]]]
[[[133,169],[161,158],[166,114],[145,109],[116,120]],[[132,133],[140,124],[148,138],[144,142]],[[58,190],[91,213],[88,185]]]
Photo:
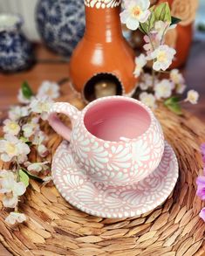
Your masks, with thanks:
[[[66,100],[65,98],[62,100]],[[72,100],[79,107],[79,100]],[[166,139],[174,147],[180,178],[167,201],[140,218],[106,219],[89,216],[65,202],[55,187],[31,182],[20,204],[28,221],[10,228],[0,211],[0,240],[11,253],[28,255],[205,255],[205,225],[198,217],[202,201],[195,196],[195,178],[202,172],[199,145],[205,127],[189,114],[176,116],[161,107],[156,112]],[[61,138],[50,128],[48,147],[52,155]],[[31,161],[40,160],[31,153]],[[0,163],[0,169],[8,165]],[[2,205],[1,205],[2,207]]]

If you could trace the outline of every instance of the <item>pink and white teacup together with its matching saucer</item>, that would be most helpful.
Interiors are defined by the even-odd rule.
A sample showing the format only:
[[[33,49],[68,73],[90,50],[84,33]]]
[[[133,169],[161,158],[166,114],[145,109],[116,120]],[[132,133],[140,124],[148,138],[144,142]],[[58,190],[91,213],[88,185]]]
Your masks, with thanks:
[[[72,121],[72,131],[57,113]],[[63,197],[92,215],[139,215],[163,203],[174,189],[178,163],[165,146],[161,125],[138,100],[123,96],[94,100],[80,112],[54,103],[49,122],[66,141],[52,162]]]

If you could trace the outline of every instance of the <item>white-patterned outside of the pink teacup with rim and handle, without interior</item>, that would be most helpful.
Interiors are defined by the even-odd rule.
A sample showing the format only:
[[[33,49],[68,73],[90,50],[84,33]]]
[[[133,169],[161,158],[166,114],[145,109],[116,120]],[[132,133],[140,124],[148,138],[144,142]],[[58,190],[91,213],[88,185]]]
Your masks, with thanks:
[[[102,100],[127,100],[143,107],[150,116],[147,131],[136,139],[110,142],[92,135],[85,128],[86,111]],[[67,114],[72,119],[72,133],[63,124],[51,121],[54,113]],[[164,137],[159,121],[152,111],[138,100],[123,96],[111,96],[92,101],[80,113],[68,103],[55,103],[51,107],[50,124],[56,131],[71,142],[75,163],[87,171],[93,182],[106,185],[127,185],[137,183],[157,168],[164,151]],[[59,129],[59,125],[61,128]],[[71,134],[71,135],[70,135]]]

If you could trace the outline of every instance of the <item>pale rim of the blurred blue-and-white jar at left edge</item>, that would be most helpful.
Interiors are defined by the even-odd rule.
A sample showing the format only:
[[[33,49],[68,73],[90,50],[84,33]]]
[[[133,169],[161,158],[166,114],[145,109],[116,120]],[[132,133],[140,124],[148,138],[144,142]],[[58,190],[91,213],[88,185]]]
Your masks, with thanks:
[[[0,13],[0,17],[16,17],[16,21],[13,24],[10,25],[1,25],[0,24],[0,32],[3,31],[16,31],[18,28],[24,24],[24,18],[18,14],[18,13],[12,13],[12,12],[2,12]]]

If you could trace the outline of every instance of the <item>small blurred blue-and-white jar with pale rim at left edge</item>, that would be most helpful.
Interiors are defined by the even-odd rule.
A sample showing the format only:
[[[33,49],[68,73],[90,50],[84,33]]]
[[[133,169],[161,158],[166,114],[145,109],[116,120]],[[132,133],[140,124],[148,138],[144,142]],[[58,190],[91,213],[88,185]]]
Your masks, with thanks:
[[[14,73],[30,68],[34,62],[31,42],[21,31],[22,17],[0,14],[0,72]]]

